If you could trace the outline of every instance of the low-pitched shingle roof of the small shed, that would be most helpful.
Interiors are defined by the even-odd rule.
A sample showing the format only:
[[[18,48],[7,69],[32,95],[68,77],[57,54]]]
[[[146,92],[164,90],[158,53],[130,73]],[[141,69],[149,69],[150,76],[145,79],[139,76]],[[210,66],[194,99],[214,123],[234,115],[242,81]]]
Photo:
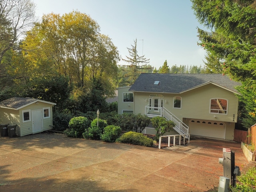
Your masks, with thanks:
[[[43,102],[43,103],[48,103],[52,105],[56,105],[56,103],[44,101],[44,100],[39,100],[39,99],[34,99],[30,97],[12,97],[10,99],[6,99],[2,102],[0,102],[0,108],[8,108],[8,109],[14,109],[14,110],[19,110],[21,108],[24,108],[30,104],[33,104],[35,102]]]

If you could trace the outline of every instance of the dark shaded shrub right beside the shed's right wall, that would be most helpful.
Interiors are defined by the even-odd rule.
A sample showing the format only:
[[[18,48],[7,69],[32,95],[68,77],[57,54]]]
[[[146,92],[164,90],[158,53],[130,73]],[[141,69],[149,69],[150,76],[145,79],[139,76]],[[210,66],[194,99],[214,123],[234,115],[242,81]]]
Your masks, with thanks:
[[[74,117],[74,114],[55,111],[52,116],[53,130],[64,131],[68,129],[70,119]]]

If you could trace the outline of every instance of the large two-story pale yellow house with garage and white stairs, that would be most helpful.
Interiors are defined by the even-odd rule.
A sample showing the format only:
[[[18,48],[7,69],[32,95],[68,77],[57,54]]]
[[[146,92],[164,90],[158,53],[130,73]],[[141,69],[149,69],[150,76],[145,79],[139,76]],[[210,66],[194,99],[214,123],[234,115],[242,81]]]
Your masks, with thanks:
[[[176,123],[170,134],[233,140],[241,85],[222,74],[141,74],[118,88],[118,114],[164,116]],[[144,134],[155,134],[152,127]]]

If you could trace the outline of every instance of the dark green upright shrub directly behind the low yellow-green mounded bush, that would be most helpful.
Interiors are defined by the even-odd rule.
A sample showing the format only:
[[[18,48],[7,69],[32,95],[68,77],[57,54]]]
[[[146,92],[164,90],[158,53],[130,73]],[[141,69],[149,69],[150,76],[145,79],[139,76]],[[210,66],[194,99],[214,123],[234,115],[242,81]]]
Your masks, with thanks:
[[[134,116],[132,130],[141,133],[150,123],[150,118],[146,115],[137,114]]]

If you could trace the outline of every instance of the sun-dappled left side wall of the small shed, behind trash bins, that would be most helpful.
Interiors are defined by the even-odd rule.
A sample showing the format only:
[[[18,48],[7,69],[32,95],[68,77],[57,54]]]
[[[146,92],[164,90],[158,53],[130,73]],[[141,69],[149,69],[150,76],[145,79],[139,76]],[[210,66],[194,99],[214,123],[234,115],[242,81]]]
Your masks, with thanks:
[[[1,124],[17,124],[16,134],[20,136],[20,114],[18,110],[0,108],[0,122]]]

